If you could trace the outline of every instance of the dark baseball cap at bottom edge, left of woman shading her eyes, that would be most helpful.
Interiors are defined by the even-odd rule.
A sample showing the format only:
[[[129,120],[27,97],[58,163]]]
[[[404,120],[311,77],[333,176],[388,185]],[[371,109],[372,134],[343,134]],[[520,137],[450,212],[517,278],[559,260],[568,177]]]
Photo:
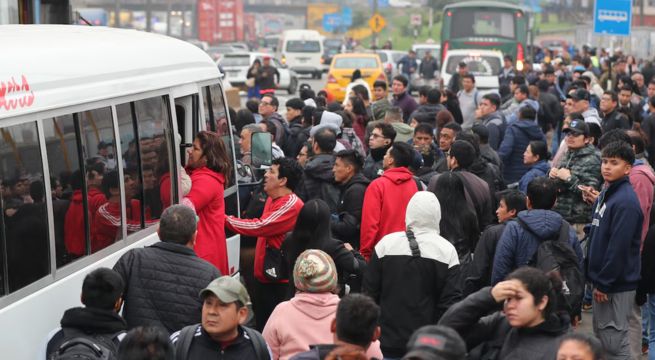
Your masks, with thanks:
[[[465,357],[466,344],[455,330],[427,325],[412,334],[403,360],[464,360]]]

